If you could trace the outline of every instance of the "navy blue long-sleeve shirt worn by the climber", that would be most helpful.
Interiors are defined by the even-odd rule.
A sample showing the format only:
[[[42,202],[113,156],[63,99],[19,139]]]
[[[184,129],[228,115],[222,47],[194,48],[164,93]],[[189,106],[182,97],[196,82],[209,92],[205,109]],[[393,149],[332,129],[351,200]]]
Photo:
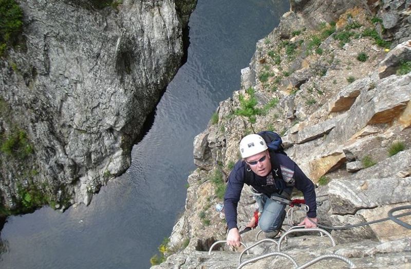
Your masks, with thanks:
[[[304,174],[304,172],[298,167],[298,165],[292,161],[288,156],[280,153],[270,152],[270,155],[275,155],[275,158],[271,158],[271,169],[274,174],[274,159],[278,162],[277,167],[280,167],[283,180],[288,186],[295,186],[298,190],[301,190],[304,194],[306,204],[310,210],[307,216],[310,218],[316,217],[316,203],[315,203],[315,190],[312,181]],[[248,183],[255,189],[263,193],[271,193],[274,186],[267,185],[267,177],[259,177],[255,175],[250,182],[246,181],[245,173],[247,164],[243,160],[239,160],[230,173],[227,183],[226,194],[224,196],[224,212],[226,214],[226,220],[228,228],[237,227],[237,204],[240,200],[241,190],[244,183]],[[275,174],[274,174],[275,175]],[[275,187],[274,187],[275,188]],[[265,191],[267,190],[267,191]]]

